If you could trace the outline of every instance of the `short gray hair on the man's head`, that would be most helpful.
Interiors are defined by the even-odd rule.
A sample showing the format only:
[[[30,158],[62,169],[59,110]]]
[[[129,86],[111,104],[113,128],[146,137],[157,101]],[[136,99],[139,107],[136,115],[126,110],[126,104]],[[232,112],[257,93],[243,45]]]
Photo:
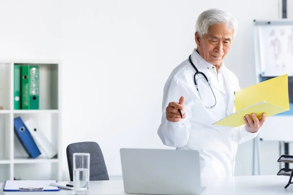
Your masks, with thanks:
[[[201,13],[196,21],[196,31],[200,38],[209,32],[209,26],[214,24],[226,24],[233,29],[233,38],[238,30],[238,22],[230,12],[222,9],[208,9]]]

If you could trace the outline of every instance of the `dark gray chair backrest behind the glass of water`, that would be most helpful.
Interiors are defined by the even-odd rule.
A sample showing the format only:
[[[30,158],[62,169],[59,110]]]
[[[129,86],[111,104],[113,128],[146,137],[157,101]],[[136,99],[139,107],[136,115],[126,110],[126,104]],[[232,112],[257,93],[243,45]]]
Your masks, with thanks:
[[[88,141],[71,143],[66,148],[70,181],[73,181],[73,153],[90,154],[90,181],[109,180],[104,156],[99,144]]]

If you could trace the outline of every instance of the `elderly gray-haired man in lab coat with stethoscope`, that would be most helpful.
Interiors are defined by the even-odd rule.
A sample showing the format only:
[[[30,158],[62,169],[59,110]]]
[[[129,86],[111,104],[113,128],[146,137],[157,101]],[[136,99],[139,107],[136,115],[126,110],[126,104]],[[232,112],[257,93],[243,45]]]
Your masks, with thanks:
[[[172,71],[164,87],[158,135],[167,146],[200,153],[203,185],[234,175],[238,144],[256,137],[265,121],[265,114],[258,120],[248,113],[246,125],[213,125],[235,112],[234,92],[240,87],[223,59],[236,32],[237,21],[229,12],[209,9],[201,13],[196,21],[197,47]]]

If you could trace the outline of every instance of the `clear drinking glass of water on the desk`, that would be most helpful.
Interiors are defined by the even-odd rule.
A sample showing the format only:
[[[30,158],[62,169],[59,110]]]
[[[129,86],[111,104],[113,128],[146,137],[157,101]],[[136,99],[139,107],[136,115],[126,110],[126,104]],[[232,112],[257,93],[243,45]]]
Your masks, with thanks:
[[[89,166],[89,153],[73,154],[73,188],[75,195],[88,195]]]

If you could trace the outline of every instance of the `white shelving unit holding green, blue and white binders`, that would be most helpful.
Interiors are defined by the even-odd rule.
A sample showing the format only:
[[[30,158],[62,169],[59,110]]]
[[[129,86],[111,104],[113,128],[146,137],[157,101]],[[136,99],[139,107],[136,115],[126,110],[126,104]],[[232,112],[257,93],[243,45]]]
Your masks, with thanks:
[[[39,110],[14,110],[14,65],[39,65]],[[62,180],[60,61],[0,59],[0,182],[4,180]],[[56,158],[27,155],[14,133],[14,118],[33,117],[58,151]]]

